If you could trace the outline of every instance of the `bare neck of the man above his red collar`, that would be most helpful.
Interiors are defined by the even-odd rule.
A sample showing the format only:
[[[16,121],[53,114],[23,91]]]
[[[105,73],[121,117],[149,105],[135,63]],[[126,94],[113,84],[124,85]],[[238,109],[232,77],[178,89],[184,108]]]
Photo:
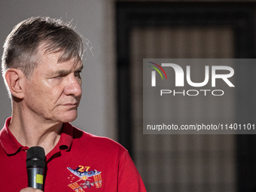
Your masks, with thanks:
[[[38,120],[13,111],[9,129],[21,145],[40,146],[48,154],[59,142],[62,123]]]

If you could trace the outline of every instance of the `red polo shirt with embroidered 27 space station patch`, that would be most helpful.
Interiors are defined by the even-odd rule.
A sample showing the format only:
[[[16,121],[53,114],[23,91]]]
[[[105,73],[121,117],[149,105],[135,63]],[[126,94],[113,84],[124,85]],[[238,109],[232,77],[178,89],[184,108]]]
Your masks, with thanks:
[[[26,151],[5,122],[0,132],[0,191],[27,187]],[[46,156],[44,192],[146,191],[130,155],[117,142],[63,123],[59,142]]]

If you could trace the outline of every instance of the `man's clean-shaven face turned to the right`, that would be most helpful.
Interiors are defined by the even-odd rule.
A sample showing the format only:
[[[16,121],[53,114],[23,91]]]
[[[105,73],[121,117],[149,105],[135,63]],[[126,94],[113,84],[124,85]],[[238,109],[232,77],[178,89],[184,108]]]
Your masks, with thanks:
[[[26,79],[23,99],[32,118],[64,123],[78,115],[83,64],[74,59],[58,63],[60,54],[38,51],[40,64]]]

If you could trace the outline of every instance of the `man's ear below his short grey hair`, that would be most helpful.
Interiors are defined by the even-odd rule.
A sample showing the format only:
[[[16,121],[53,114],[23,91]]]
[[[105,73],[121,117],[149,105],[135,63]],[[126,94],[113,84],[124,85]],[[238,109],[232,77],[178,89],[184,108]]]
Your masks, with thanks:
[[[23,80],[25,79],[25,75],[20,69],[8,69],[5,73],[5,80],[8,84],[8,87],[11,91],[11,94],[19,99],[24,98],[24,90],[23,90]]]

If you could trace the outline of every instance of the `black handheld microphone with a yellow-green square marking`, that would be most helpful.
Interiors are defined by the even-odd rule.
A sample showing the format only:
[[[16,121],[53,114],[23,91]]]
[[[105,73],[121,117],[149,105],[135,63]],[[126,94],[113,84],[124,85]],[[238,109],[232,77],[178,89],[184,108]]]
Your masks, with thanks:
[[[43,190],[44,166],[44,148],[38,146],[29,148],[26,154],[26,171],[28,173],[28,187]]]

